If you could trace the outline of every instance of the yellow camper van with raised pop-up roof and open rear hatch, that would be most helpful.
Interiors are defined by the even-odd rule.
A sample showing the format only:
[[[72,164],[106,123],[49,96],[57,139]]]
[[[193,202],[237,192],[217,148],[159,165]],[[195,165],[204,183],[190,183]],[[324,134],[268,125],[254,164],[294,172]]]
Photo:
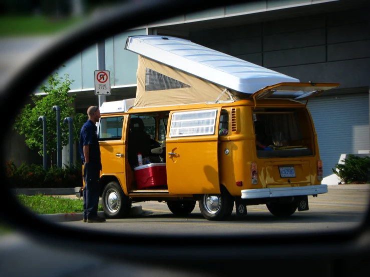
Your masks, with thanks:
[[[266,204],[276,216],[327,192],[309,98],[337,83],[298,79],[168,36],[128,37],[139,56],[135,98],[105,102],[98,125],[102,203],[165,201],[176,215],[196,201],[209,220]]]

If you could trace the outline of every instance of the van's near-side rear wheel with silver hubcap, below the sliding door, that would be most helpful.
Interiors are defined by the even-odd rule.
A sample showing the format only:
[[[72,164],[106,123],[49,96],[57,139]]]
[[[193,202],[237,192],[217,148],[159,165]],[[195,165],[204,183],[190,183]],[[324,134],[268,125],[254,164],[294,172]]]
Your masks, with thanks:
[[[199,199],[199,208],[208,220],[226,220],[234,208],[234,197],[222,188],[221,194],[203,194]]]

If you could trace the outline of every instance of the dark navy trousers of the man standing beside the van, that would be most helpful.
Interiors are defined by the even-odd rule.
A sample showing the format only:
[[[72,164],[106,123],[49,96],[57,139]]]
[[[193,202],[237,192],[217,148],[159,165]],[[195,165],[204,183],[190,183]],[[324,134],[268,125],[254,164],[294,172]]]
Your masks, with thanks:
[[[98,215],[98,203],[101,189],[99,164],[88,162],[84,165],[84,181],[84,218],[89,219]]]

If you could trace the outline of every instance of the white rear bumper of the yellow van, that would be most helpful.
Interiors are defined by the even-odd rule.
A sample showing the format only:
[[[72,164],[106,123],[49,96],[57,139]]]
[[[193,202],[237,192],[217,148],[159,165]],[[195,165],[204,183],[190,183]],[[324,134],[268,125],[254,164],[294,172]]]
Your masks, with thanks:
[[[243,189],[241,197],[243,199],[284,197],[298,195],[317,195],[327,192],[327,184],[316,184],[295,187],[276,187],[276,188],[256,188]]]

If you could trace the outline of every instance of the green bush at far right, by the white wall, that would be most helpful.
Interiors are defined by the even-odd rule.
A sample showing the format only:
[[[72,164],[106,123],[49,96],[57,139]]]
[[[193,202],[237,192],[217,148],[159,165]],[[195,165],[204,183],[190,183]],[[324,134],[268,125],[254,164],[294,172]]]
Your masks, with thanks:
[[[344,160],[344,164],[338,163],[331,170],[344,183],[366,183],[370,170],[370,157],[359,157],[349,154]],[[338,169],[338,171],[336,171]]]

